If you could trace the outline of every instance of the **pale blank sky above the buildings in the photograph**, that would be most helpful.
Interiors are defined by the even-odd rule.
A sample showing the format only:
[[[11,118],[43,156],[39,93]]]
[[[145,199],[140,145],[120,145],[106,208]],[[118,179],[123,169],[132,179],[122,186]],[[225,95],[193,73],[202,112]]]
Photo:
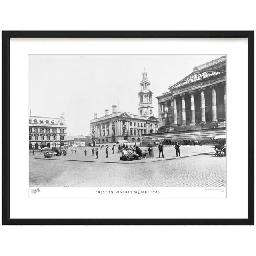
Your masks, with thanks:
[[[138,114],[138,92],[144,68],[156,96],[168,92],[193,67],[222,55],[30,55],[29,93],[32,116],[59,117],[65,112],[68,135],[88,135],[94,113]]]

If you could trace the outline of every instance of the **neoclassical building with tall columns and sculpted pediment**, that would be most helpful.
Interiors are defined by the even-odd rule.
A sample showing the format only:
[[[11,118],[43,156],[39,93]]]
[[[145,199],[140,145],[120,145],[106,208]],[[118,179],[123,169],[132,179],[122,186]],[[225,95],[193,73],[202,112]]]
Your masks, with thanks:
[[[156,97],[159,134],[143,140],[207,140],[226,134],[226,56],[194,67],[168,89]]]

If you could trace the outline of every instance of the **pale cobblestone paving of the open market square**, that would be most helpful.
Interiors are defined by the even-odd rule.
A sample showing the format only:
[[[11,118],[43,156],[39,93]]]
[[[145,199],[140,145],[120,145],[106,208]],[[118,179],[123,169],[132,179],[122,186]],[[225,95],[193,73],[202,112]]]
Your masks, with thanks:
[[[105,150],[84,157],[84,149],[68,156],[44,159],[42,154],[30,156],[31,187],[224,187],[226,186],[226,158],[215,157],[213,146],[181,147],[177,158],[173,147],[165,147],[165,158],[146,158],[124,162],[121,153]],[[154,148],[157,152],[157,148]],[[209,154],[206,154],[209,153]],[[191,156],[190,156],[191,155]],[[39,159],[38,159],[39,158]],[[86,162],[84,162],[84,158]],[[63,160],[52,160],[63,159]],[[90,161],[90,162],[89,162]],[[123,164],[126,163],[126,164]]]

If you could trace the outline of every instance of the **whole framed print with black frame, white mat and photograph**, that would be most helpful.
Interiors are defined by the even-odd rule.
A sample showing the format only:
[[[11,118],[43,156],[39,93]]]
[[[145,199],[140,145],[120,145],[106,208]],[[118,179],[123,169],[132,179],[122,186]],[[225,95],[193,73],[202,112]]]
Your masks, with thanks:
[[[254,224],[253,31],[4,31],[2,102],[2,224]]]

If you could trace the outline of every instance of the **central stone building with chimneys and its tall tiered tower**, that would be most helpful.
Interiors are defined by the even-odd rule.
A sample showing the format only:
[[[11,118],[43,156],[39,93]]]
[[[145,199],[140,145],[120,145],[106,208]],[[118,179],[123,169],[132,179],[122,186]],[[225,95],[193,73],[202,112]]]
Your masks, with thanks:
[[[94,113],[90,121],[92,146],[116,143],[118,140],[127,140],[131,143],[141,143],[142,134],[158,132],[158,118],[153,114],[152,91],[147,72],[144,69],[138,93],[138,114],[117,112],[117,106],[112,106],[112,114],[108,109],[105,116],[99,117]]]

